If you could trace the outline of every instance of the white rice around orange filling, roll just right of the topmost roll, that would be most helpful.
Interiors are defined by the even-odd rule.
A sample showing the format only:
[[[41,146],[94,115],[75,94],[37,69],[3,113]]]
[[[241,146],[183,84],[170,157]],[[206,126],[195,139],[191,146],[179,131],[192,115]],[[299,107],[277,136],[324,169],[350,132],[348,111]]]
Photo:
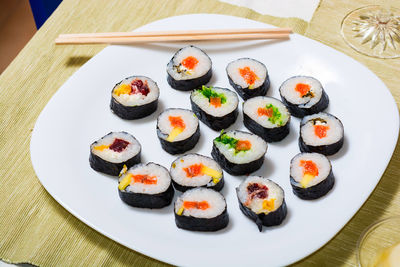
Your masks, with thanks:
[[[241,86],[242,88],[248,88],[249,84],[247,84],[246,80],[240,75],[239,69],[243,69],[245,67],[249,67],[259,79],[253,84],[253,88],[257,88],[261,86],[265,79],[267,78],[268,72],[267,68],[261,62],[251,59],[251,58],[240,58],[235,61],[232,61],[226,67],[226,72],[231,80]]]

